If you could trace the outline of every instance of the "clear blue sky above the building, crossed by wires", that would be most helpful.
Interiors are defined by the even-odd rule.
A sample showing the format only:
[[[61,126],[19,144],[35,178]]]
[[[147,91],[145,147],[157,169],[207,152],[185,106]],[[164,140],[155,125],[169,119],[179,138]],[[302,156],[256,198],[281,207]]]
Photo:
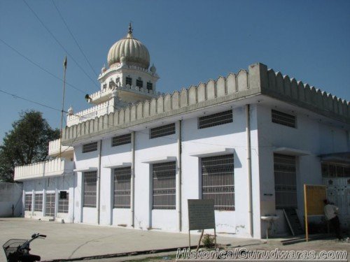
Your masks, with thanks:
[[[63,48],[25,1],[0,0],[0,89],[52,108],[62,106],[62,82],[45,71],[62,78],[67,51],[66,80],[80,91],[66,87],[65,108],[87,108],[84,96],[99,89],[97,74],[130,21],[157,67],[160,92],[237,73],[259,61],[350,100],[350,1],[55,0],[92,68],[52,0],[26,2]],[[59,111],[0,92],[1,141],[19,112],[29,109],[59,127]]]

